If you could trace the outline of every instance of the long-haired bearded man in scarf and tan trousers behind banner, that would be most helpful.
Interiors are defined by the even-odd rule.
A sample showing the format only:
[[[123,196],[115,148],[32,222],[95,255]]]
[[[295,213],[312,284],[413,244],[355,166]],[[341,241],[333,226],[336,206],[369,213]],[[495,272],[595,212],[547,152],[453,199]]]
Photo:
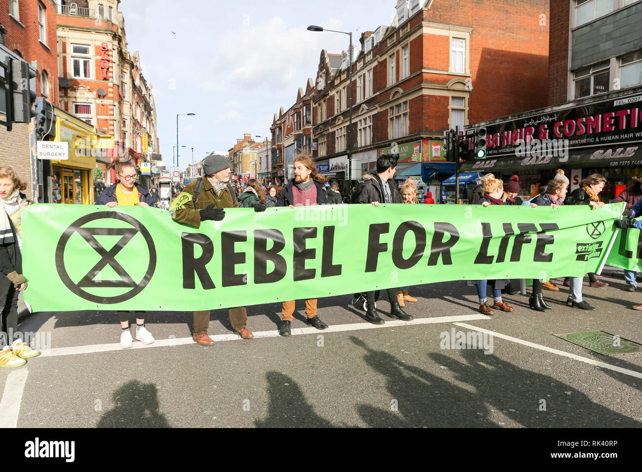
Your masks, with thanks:
[[[300,153],[294,159],[294,179],[288,182],[279,192],[277,207],[302,207],[309,205],[328,205],[329,199],[325,191],[325,177],[318,173],[315,161],[308,153]],[[282,303],[282,324],[279,335],[291,335],[291,321],[295,308],[295,300]],[[317,299],[306,299],[306,315],[308,325],[317,329],[326,329],[327,324],[317,315]]]

